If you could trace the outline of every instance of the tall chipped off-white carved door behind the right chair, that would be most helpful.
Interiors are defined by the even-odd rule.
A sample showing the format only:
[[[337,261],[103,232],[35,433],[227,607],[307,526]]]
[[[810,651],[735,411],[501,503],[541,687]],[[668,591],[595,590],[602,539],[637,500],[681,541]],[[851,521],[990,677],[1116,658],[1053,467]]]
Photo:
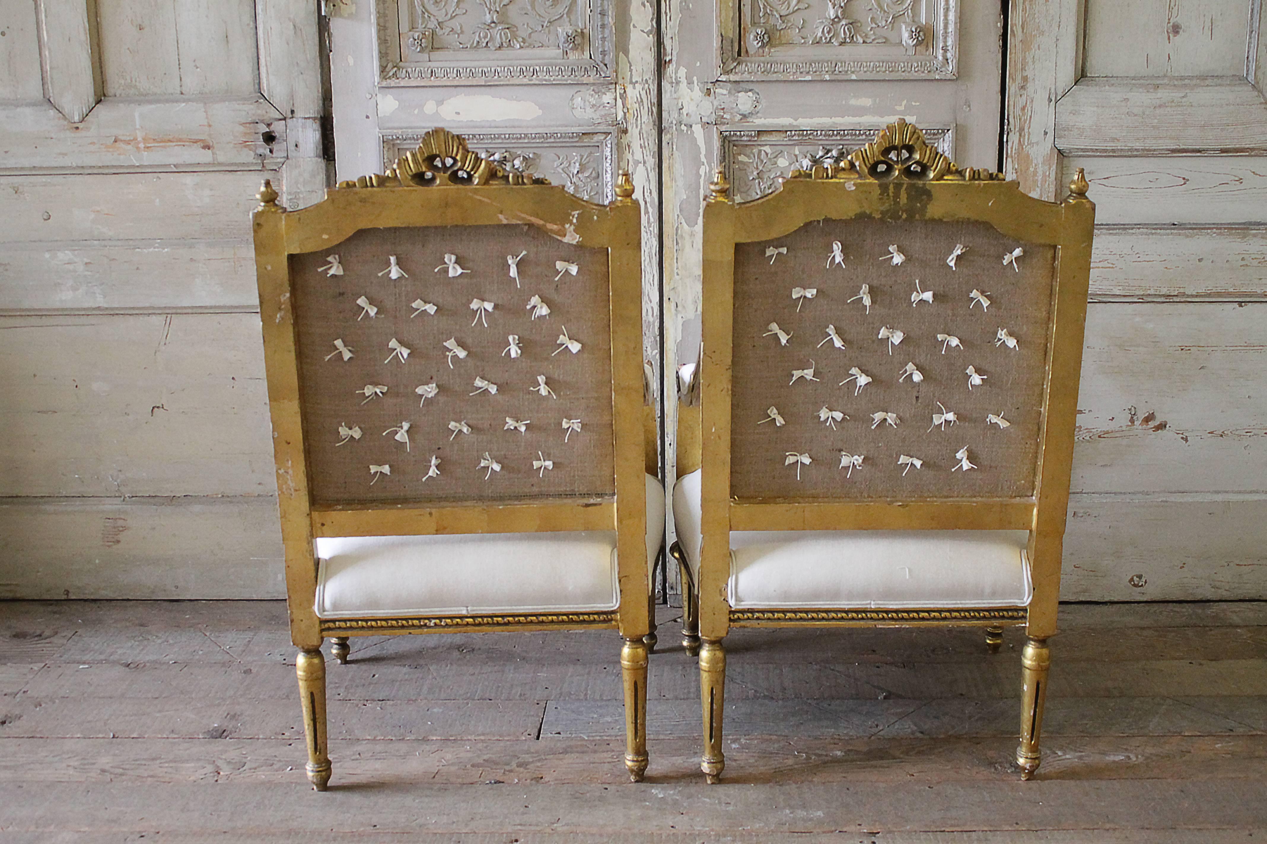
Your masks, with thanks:
[[[897,118],[957,163],[998,170],[1001,34],[1000,0],[668,1],[666,371],[679,338],[682,356],[698,343],[708,176],[721,167],[732,196],[756,199],[798,162],[869,143]]]

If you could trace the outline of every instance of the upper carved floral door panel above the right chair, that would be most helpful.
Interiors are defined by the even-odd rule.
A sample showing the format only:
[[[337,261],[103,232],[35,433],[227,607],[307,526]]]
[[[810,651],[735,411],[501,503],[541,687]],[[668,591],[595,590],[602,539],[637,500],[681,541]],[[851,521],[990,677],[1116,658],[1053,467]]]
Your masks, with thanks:
[[[954,78],[958,0],[736,0],[730,78]]]

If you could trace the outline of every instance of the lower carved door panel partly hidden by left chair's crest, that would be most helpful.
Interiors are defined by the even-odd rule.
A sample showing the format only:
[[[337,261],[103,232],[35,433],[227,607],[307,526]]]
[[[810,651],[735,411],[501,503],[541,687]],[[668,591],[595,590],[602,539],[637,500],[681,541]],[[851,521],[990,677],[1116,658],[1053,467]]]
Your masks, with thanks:
[[[395,161],[417,148],[423,134],[424,130],[384,134],[383,161]],[[616,199],[614,130],[465,132],[462,137],[471,149],[512,172],[549,178],[551,185],[563,185],[590,202]]]

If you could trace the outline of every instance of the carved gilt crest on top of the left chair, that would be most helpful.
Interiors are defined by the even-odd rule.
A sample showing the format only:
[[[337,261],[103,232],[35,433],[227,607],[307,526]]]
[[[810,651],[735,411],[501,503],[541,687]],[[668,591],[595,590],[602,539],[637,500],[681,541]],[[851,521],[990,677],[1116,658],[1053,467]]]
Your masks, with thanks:
[[[473,152],[461,135],[432,129],[418,148],[395,161],[383,175],[361,176],[340,187],[431,187],[436,185],[549,185],[549,180],[507,168]]]

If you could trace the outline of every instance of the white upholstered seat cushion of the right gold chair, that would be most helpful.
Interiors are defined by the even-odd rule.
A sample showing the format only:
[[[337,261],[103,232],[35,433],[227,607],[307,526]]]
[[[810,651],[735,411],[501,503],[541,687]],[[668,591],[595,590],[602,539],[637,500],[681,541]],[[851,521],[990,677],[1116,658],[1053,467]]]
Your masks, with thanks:
[[[678,478],[673,519],[699,571],[701,472]],[[1025,530],[754,530],[730,534],[734,609],[1028,606]]]

